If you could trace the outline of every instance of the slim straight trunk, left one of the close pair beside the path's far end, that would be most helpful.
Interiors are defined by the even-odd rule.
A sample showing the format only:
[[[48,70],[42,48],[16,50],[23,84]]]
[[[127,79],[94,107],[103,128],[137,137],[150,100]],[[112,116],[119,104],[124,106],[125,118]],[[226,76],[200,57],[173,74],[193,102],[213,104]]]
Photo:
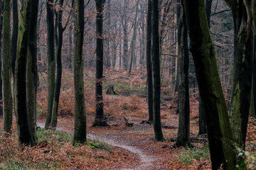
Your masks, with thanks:
[[[48,106],[46,114],[46,126],[49,128],[52,110],[53,110],[53,98],[55,91],[55,47],[54,47],[54,20],[53,20],[53,0],[49,0],[46,3],[46,21],[47,21],[47,45],[48,45]]]

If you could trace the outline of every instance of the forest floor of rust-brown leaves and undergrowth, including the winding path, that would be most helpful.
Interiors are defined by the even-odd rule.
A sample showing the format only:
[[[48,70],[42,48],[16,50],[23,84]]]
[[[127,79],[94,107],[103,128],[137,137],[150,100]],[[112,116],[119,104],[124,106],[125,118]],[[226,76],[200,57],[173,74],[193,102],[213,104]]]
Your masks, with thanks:
[[[0,137],[0,169],[210,169],[210,154],[205,139],[192,142],[193,149],[174,148],[172,142],[178,132],[176,114],[177,95],[170,93],[169,84],[162,83],[161,123],[165,142],[154,142],[153,125],[141,124],[148,119],[146,80],[142,74],[112,72],[106,77],[104,92],[112,84],[119,95],[104,94],[105,116],[109,127],[92,128],[95,118],[94,79],[85,74],[85,102],[87,112],[88,145],[73,147],[73,80],[65,73],[57,131],[38,130],[38,145],[19,149],[17,137]],[[43,77],[41,77],[43,79]],[[41,81],[38,91],[38,126],[46,120],[47,86]],[[198,95],[191,92],[191,138],[198,134]],[[124,118],[134,125],[127,127]],[[256,121],[248,128],[248,166],[255,168]],[[15,123],[14,123],[15,124]],[[0,120],[0,133],[3,121]],[[58,132],[60,131],[60,132]],[[16,128],[14,127],[14,134]],[[16,146],[16,147],[14,147]],[[11,160],[10,160],[11,159]]]

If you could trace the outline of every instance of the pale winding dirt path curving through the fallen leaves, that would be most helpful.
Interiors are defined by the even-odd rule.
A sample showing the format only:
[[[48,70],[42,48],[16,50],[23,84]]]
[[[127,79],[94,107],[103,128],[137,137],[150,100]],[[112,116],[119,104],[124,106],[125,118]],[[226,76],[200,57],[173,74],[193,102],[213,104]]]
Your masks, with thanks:
[[[40,128],[44,128],[44,123],[37,123],[37,126]],[[60,131],[60,132],[66,132],[66,133],[73,133],[72,130],[65,130],[64,128],[56,128],[56,130]],[[133,169],[151,169],[152,166],[154,166],[154,162],[157,161],[156,157],[151,157],[151,155],[146,154],[144,152],[144,150],[139,149],[138,147],[132,147],[129,145],[129,142],[125,142],[125,141],[115,141],[110,139],[109,137],[107,137],[107,135],[95,135],[92,133],[87,133],[87,138],[90,140],[100,140],[102,142],[107,143],[107,145],[112,145],[114,147],[119,147],[122,149],[126,149],[129,152],[132,152],[133,154],[135,154],[137,157],[134,157],[134,159],[139,158],[140,160],[140,165],[134,167]],[[124,169],[124,170],[128,170],[128,169]]]

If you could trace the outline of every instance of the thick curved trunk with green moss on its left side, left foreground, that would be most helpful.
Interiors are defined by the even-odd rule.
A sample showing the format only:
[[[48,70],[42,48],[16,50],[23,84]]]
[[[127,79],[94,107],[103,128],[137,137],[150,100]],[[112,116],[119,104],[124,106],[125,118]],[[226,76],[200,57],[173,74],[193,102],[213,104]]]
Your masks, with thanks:
[[[23,0],[21,7],[21,23],[18,28],[18,49],[16,57],[14,91],[16,104],[16,121],[18,129],[18,140],[23,145],[35,145],[31,128],[28,121],[26,107],[26,60],[28,53],[28,35],[31,23],[32,0]]]

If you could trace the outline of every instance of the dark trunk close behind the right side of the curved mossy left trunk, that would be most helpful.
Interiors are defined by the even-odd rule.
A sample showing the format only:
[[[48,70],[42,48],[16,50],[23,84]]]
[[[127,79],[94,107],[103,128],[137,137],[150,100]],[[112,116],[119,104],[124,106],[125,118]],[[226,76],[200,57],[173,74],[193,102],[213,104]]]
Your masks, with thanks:
[[[31,24],[28,35],[28,56],[26,63],[26,96],[28,108],[28,121],[33,140],[36,142],[36,91],[37,91],[37,45],[36,30],[38,16],[38,0],[31,2]]]

